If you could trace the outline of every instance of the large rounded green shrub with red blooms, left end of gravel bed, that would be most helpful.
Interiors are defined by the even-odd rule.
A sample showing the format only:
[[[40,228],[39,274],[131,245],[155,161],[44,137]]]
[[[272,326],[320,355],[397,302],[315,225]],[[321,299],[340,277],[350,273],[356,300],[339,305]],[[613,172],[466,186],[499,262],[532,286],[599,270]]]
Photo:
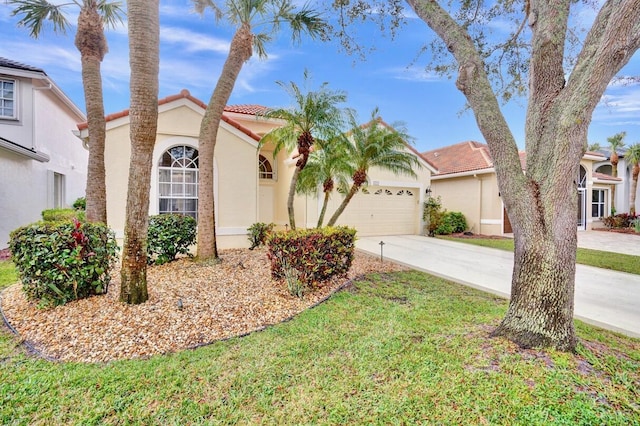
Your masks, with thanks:
[[[106,293],[118,254],[109,228],[76,219],[18,228],[9,246],[23,291],[40,306]]]

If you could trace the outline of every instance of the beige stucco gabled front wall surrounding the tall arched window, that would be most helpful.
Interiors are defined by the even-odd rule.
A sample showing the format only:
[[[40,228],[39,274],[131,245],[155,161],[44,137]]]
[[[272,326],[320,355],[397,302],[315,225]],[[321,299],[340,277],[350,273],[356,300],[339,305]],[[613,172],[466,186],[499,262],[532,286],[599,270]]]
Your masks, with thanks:
[[[149,214],[158,214],[158,163],[177,145],[198,146],[202,111],[187,105],[164,108],[158,115],[153,154]],[[126,191],[131,155],[128,119],[119,119],[107,132],[107,208],[109,226],[124,235]],[[243,139],[244,138],[244,139]],[[257,142],[247,140],[226,124],[218,132],[214,156],[216,237],[219,248],[248,246],[246,229],[257,222]]]

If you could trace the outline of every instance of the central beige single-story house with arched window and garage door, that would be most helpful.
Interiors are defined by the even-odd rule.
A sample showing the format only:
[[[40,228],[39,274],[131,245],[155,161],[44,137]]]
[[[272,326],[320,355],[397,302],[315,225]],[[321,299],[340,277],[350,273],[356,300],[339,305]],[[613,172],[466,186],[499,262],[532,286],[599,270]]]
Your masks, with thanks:
[[[159,100],[158,130],[153,153],[149,214],[177,212],[197,216],[198,133],[206,104],[187,90]],[[214,201],[218,247],[248,247],[247,228],[256,222],[288,224],[287,195],[295,160],[273,147],[258,148],[260,138],[282,123],[261,118],[266,107],[229,106],[225,109],[214,157]],[[87,125],[78,125],[87,137]],[[105,151],[107,217],[118,238],[124,234],[130,157],[129,111],[107,116]],[[338,224],[354,226],[358,235],[418,234],[422,229],[422,203],[433,169],[424,165],[418,178],[373,170],[369,185],[351,201]],[[318,189],[319,195],[321,188]],[[339,204],[332,197],[327,218]],[[322,199],[297,196],[296,223],[315,227]]]

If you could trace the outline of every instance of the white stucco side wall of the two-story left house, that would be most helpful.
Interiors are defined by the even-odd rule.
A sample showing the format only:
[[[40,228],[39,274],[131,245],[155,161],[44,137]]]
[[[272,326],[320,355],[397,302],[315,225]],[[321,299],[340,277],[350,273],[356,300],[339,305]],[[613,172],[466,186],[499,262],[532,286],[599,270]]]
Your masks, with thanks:
[[[0,120],[0,135],[50,157],[48,162],[0,148],[0,248],[9,233],[42,218],[53,205],[53,172],[64,175],[64,204],[84,196],[88,151],[72,131],[83,120],[51,89],[32,89],[30,80],[18,85],[18,121]]]

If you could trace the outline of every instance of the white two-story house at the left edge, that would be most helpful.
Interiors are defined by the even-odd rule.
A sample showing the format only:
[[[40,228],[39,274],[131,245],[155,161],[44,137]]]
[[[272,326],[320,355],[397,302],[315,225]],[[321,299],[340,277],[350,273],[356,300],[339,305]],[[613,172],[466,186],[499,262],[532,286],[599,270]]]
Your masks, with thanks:
[[[0,248],[84,196],[89,153],[72,130],[85,120],[43,70],[0,57]]]

